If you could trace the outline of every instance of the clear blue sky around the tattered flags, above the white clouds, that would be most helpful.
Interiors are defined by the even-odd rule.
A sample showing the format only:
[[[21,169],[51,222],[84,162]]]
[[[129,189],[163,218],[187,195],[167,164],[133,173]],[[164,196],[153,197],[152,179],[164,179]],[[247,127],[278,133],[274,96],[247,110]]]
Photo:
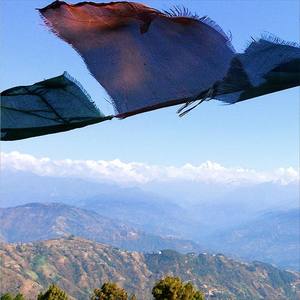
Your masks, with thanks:
[[[70,1],[74,2],[74,1]],[[208,15],[242,51],[251,36],[270,32],[299,42],[299,1],[141,1],[158,9],[184,5]],[[0,89],[26,85],[68,71],[105,113],[105,92],[75,51],[43,25],[37,7],[50,1],[2,0],[0,3]],[[256,169],[299,165],[299,88],[224,106],[211,101],[184,118],[177,108],[162,109],[122,121],[113,120],[66,133],[2,142],[13,150],[52,159],[120,159],[150,164],[199,164]]]

